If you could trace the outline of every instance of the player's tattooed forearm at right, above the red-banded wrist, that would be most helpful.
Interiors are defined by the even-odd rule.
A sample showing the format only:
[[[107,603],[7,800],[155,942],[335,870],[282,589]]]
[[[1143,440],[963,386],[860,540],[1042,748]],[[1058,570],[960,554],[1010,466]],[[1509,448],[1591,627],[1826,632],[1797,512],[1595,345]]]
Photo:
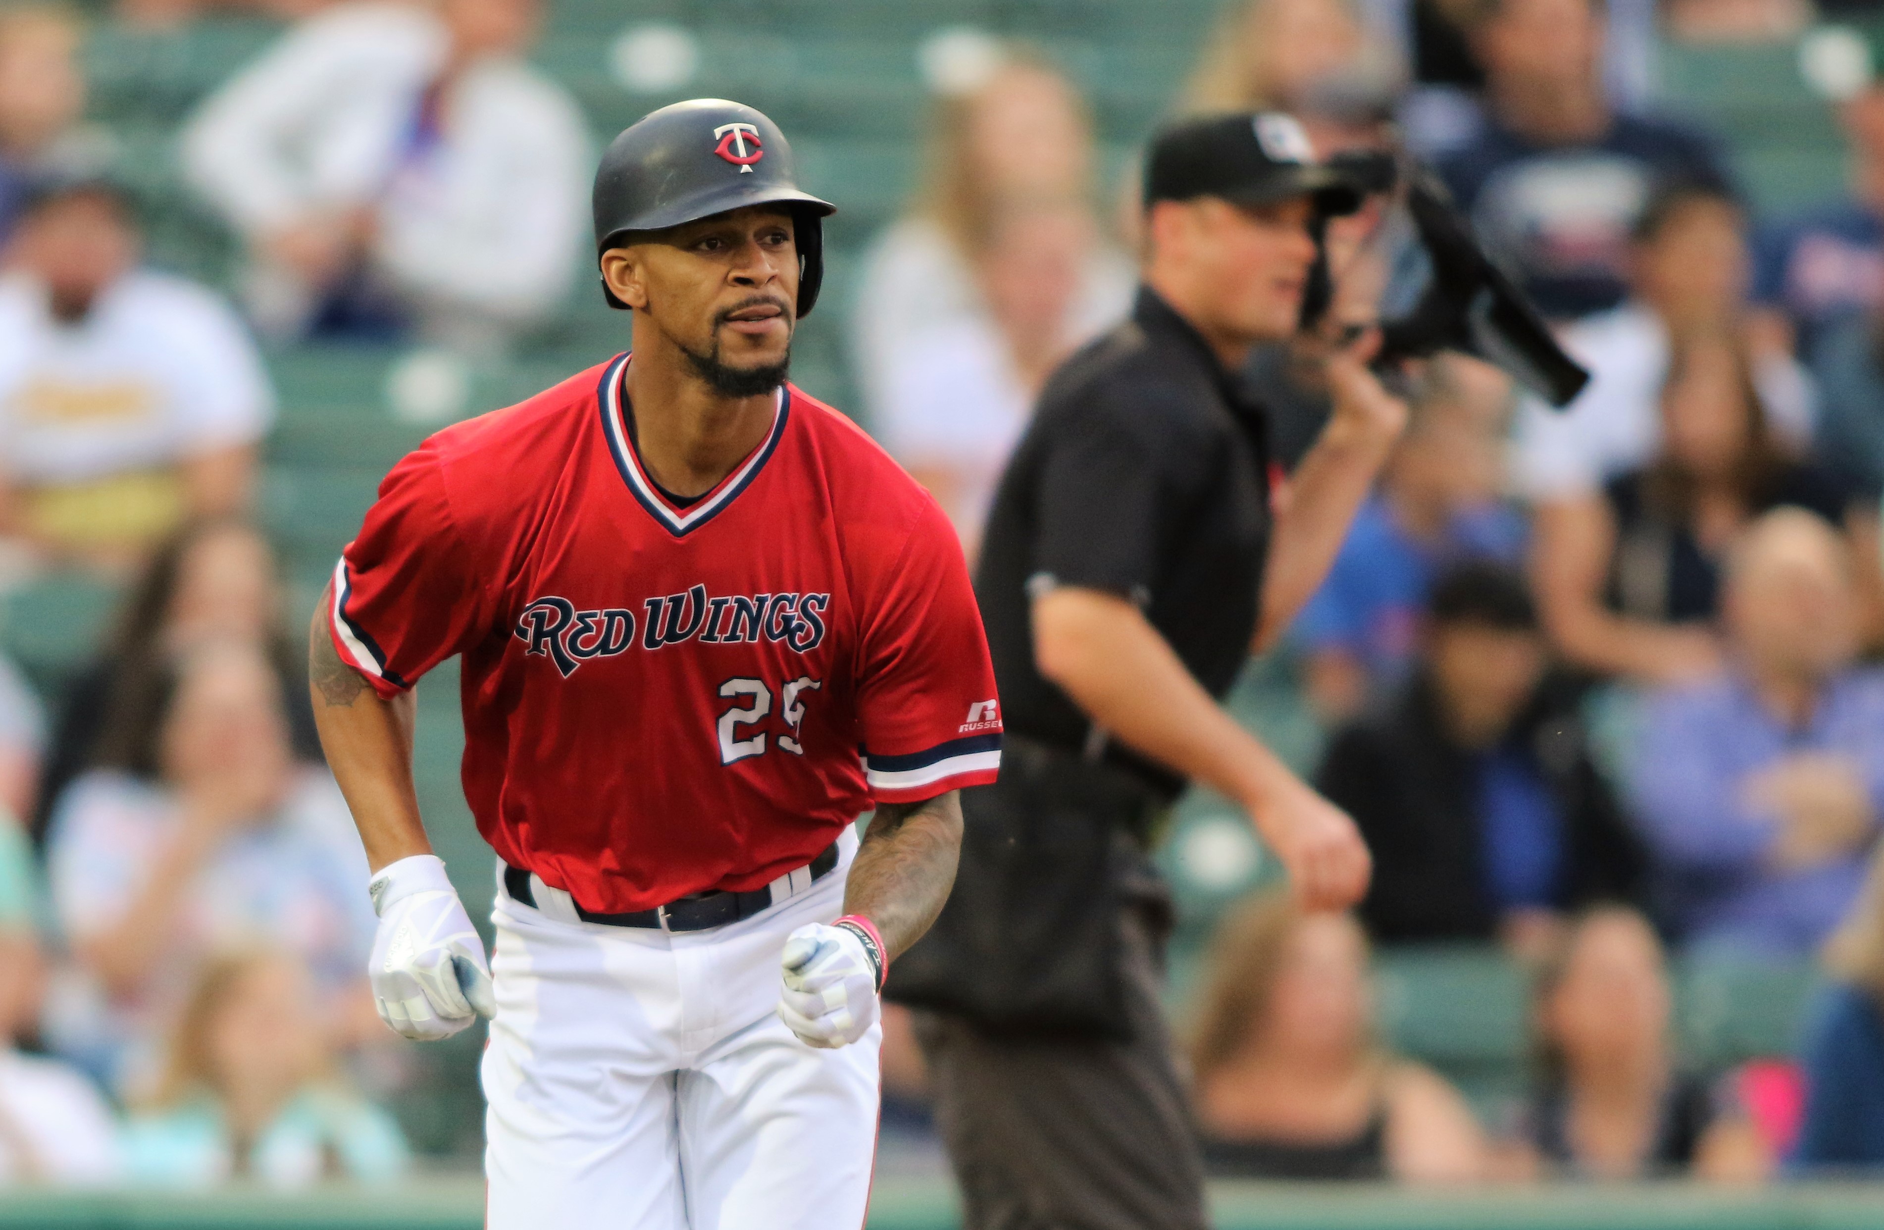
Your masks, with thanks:
[[[895,961],[923,938],[955,887],[961,793],[876,808],[844,885],[844,914],[876,925]]]

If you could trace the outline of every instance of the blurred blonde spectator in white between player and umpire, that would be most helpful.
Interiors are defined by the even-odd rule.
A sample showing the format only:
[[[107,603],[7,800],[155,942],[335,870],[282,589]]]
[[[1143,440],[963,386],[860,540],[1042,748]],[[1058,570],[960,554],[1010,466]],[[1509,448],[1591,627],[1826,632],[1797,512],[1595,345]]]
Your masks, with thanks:
[[[852,354],[869,424],[970,552],[1046,375],[1130,307],[1132,266],[1091,192],[1085,105],[1014,53],[936,102],[918,207],[865,258]]]

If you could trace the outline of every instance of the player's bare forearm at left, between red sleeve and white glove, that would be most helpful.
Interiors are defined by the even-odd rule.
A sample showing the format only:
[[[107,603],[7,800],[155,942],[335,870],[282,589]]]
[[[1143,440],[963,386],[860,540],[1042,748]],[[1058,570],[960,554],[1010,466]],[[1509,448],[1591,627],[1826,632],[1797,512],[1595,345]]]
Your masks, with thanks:
[[[328,633],[332,588],[307,633],[307,682],[315,727],[333,780],[339,782],[371,870],[414,853],[431,853],[413,789],[411,693],[382,701],[365,678],[341,661]]]

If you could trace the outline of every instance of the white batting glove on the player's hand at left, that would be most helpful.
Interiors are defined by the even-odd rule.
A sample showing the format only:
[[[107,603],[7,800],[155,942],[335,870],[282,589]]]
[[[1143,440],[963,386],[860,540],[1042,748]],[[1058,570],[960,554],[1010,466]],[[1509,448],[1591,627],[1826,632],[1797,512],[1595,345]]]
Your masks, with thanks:
[[[367,979],[379,1019],[405,1038],[450,1038],[497,1012],[484,942],[430,853],[388,863],[367,883],[379,932]]]

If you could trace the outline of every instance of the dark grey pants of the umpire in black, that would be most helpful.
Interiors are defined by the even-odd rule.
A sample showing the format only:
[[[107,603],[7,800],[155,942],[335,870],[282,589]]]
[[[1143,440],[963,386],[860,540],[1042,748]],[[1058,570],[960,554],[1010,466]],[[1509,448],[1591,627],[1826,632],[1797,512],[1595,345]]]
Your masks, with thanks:
[[[965,1230],[1204,1230],[1204,1172],[1161,961],[1125,912],[1130,1042],[993,1038],[918,1013],[916,1038],[955,1164]]]

